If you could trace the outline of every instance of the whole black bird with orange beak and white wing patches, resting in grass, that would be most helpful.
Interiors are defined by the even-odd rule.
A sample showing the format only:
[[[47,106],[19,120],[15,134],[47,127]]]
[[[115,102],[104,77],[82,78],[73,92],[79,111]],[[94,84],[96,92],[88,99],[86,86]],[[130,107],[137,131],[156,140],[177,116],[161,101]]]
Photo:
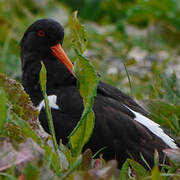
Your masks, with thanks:
[[[39,121],[49,133],[45,105],[40,87],[41,61],[47,70],[47,95],[52,111],[56,139],[68,144],[68,135],[83,112],[83,100],[77,88],[73,63],[62,48],[63,26],[53,19],[39,19],[25,31],[20,41],[22,84],[34,106],[40,111]],[[95,125],[84,150],[102,149],[105,160],[116,159],[122,167],[127,158],[154,166],[154,152],[164,162],[163,149],[178,149],[176,141],[152,121],[147,111],[131,97],[99,81],[94,98]],[[142,158],[143,156],[143,158]]]

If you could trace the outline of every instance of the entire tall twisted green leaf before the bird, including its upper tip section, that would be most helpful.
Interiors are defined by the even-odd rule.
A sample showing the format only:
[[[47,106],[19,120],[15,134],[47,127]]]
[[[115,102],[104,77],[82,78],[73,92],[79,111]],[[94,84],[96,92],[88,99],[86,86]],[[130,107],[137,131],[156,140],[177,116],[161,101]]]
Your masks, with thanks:
[[[85,27],[77,19],[77,12],[71,17],[71,28],[73,30],[73,45],[77,56],[74,71],[78,79],[78,89],[83,98],[84,111],[77,126],[69,136],[72,154],[79,154],[83,146],[89,140],[94,128],[93,104],[98,85],[97,73],[90,61],[82,56],[87,47],[87,34]]]

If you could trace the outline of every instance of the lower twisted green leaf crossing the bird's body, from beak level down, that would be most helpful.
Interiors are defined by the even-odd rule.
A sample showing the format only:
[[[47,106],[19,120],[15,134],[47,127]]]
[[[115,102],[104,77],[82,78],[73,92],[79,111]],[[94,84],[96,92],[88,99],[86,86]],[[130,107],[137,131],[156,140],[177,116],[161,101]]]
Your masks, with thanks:
[[[78,79],[78,88],[84,102],[84,111],[77,126],[70,134],[70,145],[73,155],[81,152],[89,140],[94,128],[94,113],[92,110],[96,96],[98,77],[92,64],[75,49],[78,59],[75,61],[75,74]]]

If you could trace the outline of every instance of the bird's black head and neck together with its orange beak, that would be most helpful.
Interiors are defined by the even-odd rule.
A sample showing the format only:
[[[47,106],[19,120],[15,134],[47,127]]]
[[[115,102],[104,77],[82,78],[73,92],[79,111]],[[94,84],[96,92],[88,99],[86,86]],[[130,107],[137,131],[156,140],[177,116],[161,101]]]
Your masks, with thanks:
[[[54,93],[59,85],[76,82],[72,76],[73,64],[62,48],[63,38],[63,27],[52,19],[38,20],[24,33],[21,40],[22,82],[34,105],[42,100],[41,61],[47,70],[47,94]]]

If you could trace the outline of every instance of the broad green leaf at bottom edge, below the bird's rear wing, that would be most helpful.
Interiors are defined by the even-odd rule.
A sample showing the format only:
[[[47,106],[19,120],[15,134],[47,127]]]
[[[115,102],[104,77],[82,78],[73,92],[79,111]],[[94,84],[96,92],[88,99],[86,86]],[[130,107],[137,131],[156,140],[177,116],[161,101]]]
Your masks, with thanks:
[[[131,167],[135,171],[138,178],[141,179],[141,178],[149,176],[149,172],[138,162],[136,162],[132,159],[128,159],[128,163],[131,165]]]

